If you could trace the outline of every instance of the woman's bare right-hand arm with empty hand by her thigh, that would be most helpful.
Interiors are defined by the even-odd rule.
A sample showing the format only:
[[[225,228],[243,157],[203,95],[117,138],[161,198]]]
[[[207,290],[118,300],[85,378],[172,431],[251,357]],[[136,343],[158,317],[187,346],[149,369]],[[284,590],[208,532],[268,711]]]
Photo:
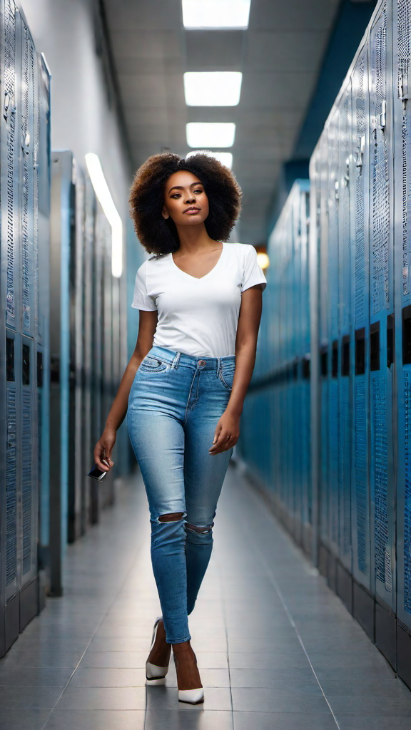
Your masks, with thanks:
[[[240,315],[235,339],[235,374],[230,400],[217,423],[209,453],[219,454],[235,446],[240,435],[240,416],[252,378],[260,327],[263,288],[260,284],[241,294]]]

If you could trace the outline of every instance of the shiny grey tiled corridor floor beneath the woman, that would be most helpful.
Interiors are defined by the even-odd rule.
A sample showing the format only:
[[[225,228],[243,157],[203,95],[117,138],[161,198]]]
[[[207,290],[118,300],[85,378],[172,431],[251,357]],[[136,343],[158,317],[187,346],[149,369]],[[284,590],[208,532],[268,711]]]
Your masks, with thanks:
[[[192,616],[204,706],[144,685],[159,607],[130,480],[69,548],[65,595],[0,661],[0,730],[404,730],[411,693],[230,469]]]

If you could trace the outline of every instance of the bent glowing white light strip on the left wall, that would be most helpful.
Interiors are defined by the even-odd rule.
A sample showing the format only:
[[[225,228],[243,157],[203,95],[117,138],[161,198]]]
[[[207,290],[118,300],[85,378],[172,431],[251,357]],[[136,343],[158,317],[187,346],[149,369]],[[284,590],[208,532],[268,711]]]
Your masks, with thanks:
[[[111,273],[119,279],[123,271],[123,223],[108,189],[98,156],[88,153],[86,165],[94,192],[111,226]]]

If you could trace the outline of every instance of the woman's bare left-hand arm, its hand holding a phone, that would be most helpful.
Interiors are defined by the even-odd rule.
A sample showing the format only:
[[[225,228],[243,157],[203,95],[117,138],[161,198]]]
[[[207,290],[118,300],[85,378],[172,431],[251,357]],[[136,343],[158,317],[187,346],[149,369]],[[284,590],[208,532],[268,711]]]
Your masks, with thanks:
[[[108,472],[113,466],[111,461],[111,452],[116,443],[117,430],[123,423],[127,413],[127,404],[129,401],[129,393],[137,369],[140,362],[146,357],[147,353],[153,347],[154,332],[157,327],[157,312],[145,312],[140,310],[140,320],[138,324],[138,336],[134,353],[130,358],[129,364],[121,378],[121,383],[117,391],[116,398],[110,408],[110,413],[105,423],[105,429],[101,438],[97,441],[94,448],[94,461],[98,469],[102,472]]]

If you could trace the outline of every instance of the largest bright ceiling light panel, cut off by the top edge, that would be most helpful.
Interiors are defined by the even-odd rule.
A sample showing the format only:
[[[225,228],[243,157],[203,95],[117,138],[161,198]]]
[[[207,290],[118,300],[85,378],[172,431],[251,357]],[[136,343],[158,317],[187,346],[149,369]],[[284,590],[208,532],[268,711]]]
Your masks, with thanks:
[[[251,0],[182,0],[184,28],[248,28]]]

